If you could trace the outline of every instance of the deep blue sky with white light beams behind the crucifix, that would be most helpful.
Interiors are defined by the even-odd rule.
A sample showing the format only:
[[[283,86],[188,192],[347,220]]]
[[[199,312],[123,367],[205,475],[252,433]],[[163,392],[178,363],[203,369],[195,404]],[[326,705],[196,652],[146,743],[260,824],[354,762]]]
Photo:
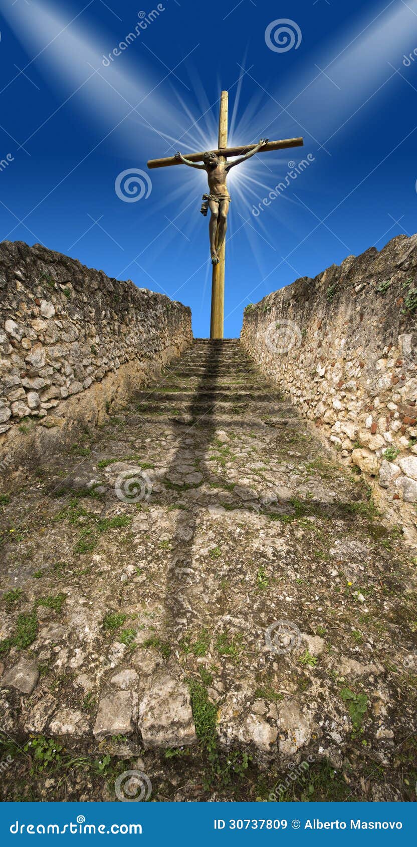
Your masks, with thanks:
[[[205,174],[146,163],[216,147],[222,88],[231,144],[304,138],[231,172],[226,337],[247,303],[417,229],[417,0],[2,0],[0,30],[0,239],[164,291],[196,336]]]

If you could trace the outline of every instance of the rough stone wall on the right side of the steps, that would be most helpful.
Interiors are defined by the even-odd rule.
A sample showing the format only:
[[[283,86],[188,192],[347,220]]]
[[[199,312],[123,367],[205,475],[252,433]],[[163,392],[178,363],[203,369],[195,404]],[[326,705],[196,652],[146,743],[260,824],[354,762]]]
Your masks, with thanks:
[[[241,340],[416,540],[417,235],[248,306]]]

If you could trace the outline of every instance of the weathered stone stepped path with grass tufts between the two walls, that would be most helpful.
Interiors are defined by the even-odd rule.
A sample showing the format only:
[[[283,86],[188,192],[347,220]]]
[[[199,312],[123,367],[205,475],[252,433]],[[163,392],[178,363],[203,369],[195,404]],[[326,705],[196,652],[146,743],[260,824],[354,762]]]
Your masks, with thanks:
[[[36,796],[114,799],[107,752],[165,800],[266,799],[308,757],[343,800],[413,799],[409,547],[237,341],[16,474],[0,522],[2,726],[92,757]],[[3,779],[31,799],[23,761]]]

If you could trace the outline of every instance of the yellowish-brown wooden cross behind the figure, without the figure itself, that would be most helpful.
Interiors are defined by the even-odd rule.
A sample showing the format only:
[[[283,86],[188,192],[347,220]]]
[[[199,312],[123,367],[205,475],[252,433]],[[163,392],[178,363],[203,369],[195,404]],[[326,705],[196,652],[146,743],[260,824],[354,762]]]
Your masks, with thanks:
[[[219,118],[219,148],[214,152],[218,156],[226,159],[231,156],[244,156],[255,144],[249,144],[247,147],[227,147],[227,107],[228,107],[228,91],[222,91],[220,97],[220,118]],[[264,144],[259,152],[269,152],[270,150],[285,150],[287,147],[303,147],[303,138],[286,138],[283,141],[269,141]],[[203,162],[204,152],[187,153],[186,158],[190,162]],[[172,156],[170,158],[149,159],[147,167],[153,168],[169,168],[171,165],[182,164],[181,161]],[[211,285],[211,319],[210,319],[210,338],[224,337],[224,319],[225,319],[225,241],[223,242],[219,252],[219,263],[213,266],[213,276]]]

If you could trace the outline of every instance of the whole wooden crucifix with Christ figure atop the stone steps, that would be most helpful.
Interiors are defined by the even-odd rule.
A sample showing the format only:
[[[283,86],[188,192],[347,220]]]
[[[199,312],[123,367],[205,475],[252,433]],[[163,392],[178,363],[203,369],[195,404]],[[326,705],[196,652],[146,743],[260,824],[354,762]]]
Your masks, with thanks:
[[[268,141],[262,138],[259,144],[248,144],[247,147],[227,147],[227,106],[228,91],[222,91],[220,97],[219,119],[219,148],[209,152],[190,153],[186,157],[178,152],[176,156],[162,159],[150,159],[147,167],[168,168],[175,164],[186,164],[192,168],[205,170],[208,174],[208,194],[203,194],[204,215],[210,210],[209,235],[210,255],[213,263],[211,285],[211,319],[210,338],[223,338],[225,317],[225,232],[227,213],[231,197],[226,188],[226,177],[236,164],[246,161],[255,153],[270,150],[284,150],[287,147],[303,147],[303,138],[286,138],[282,141]],[[231,162],[228,158],[237,156]],[[202,162],[203,164],[198,164]]]

